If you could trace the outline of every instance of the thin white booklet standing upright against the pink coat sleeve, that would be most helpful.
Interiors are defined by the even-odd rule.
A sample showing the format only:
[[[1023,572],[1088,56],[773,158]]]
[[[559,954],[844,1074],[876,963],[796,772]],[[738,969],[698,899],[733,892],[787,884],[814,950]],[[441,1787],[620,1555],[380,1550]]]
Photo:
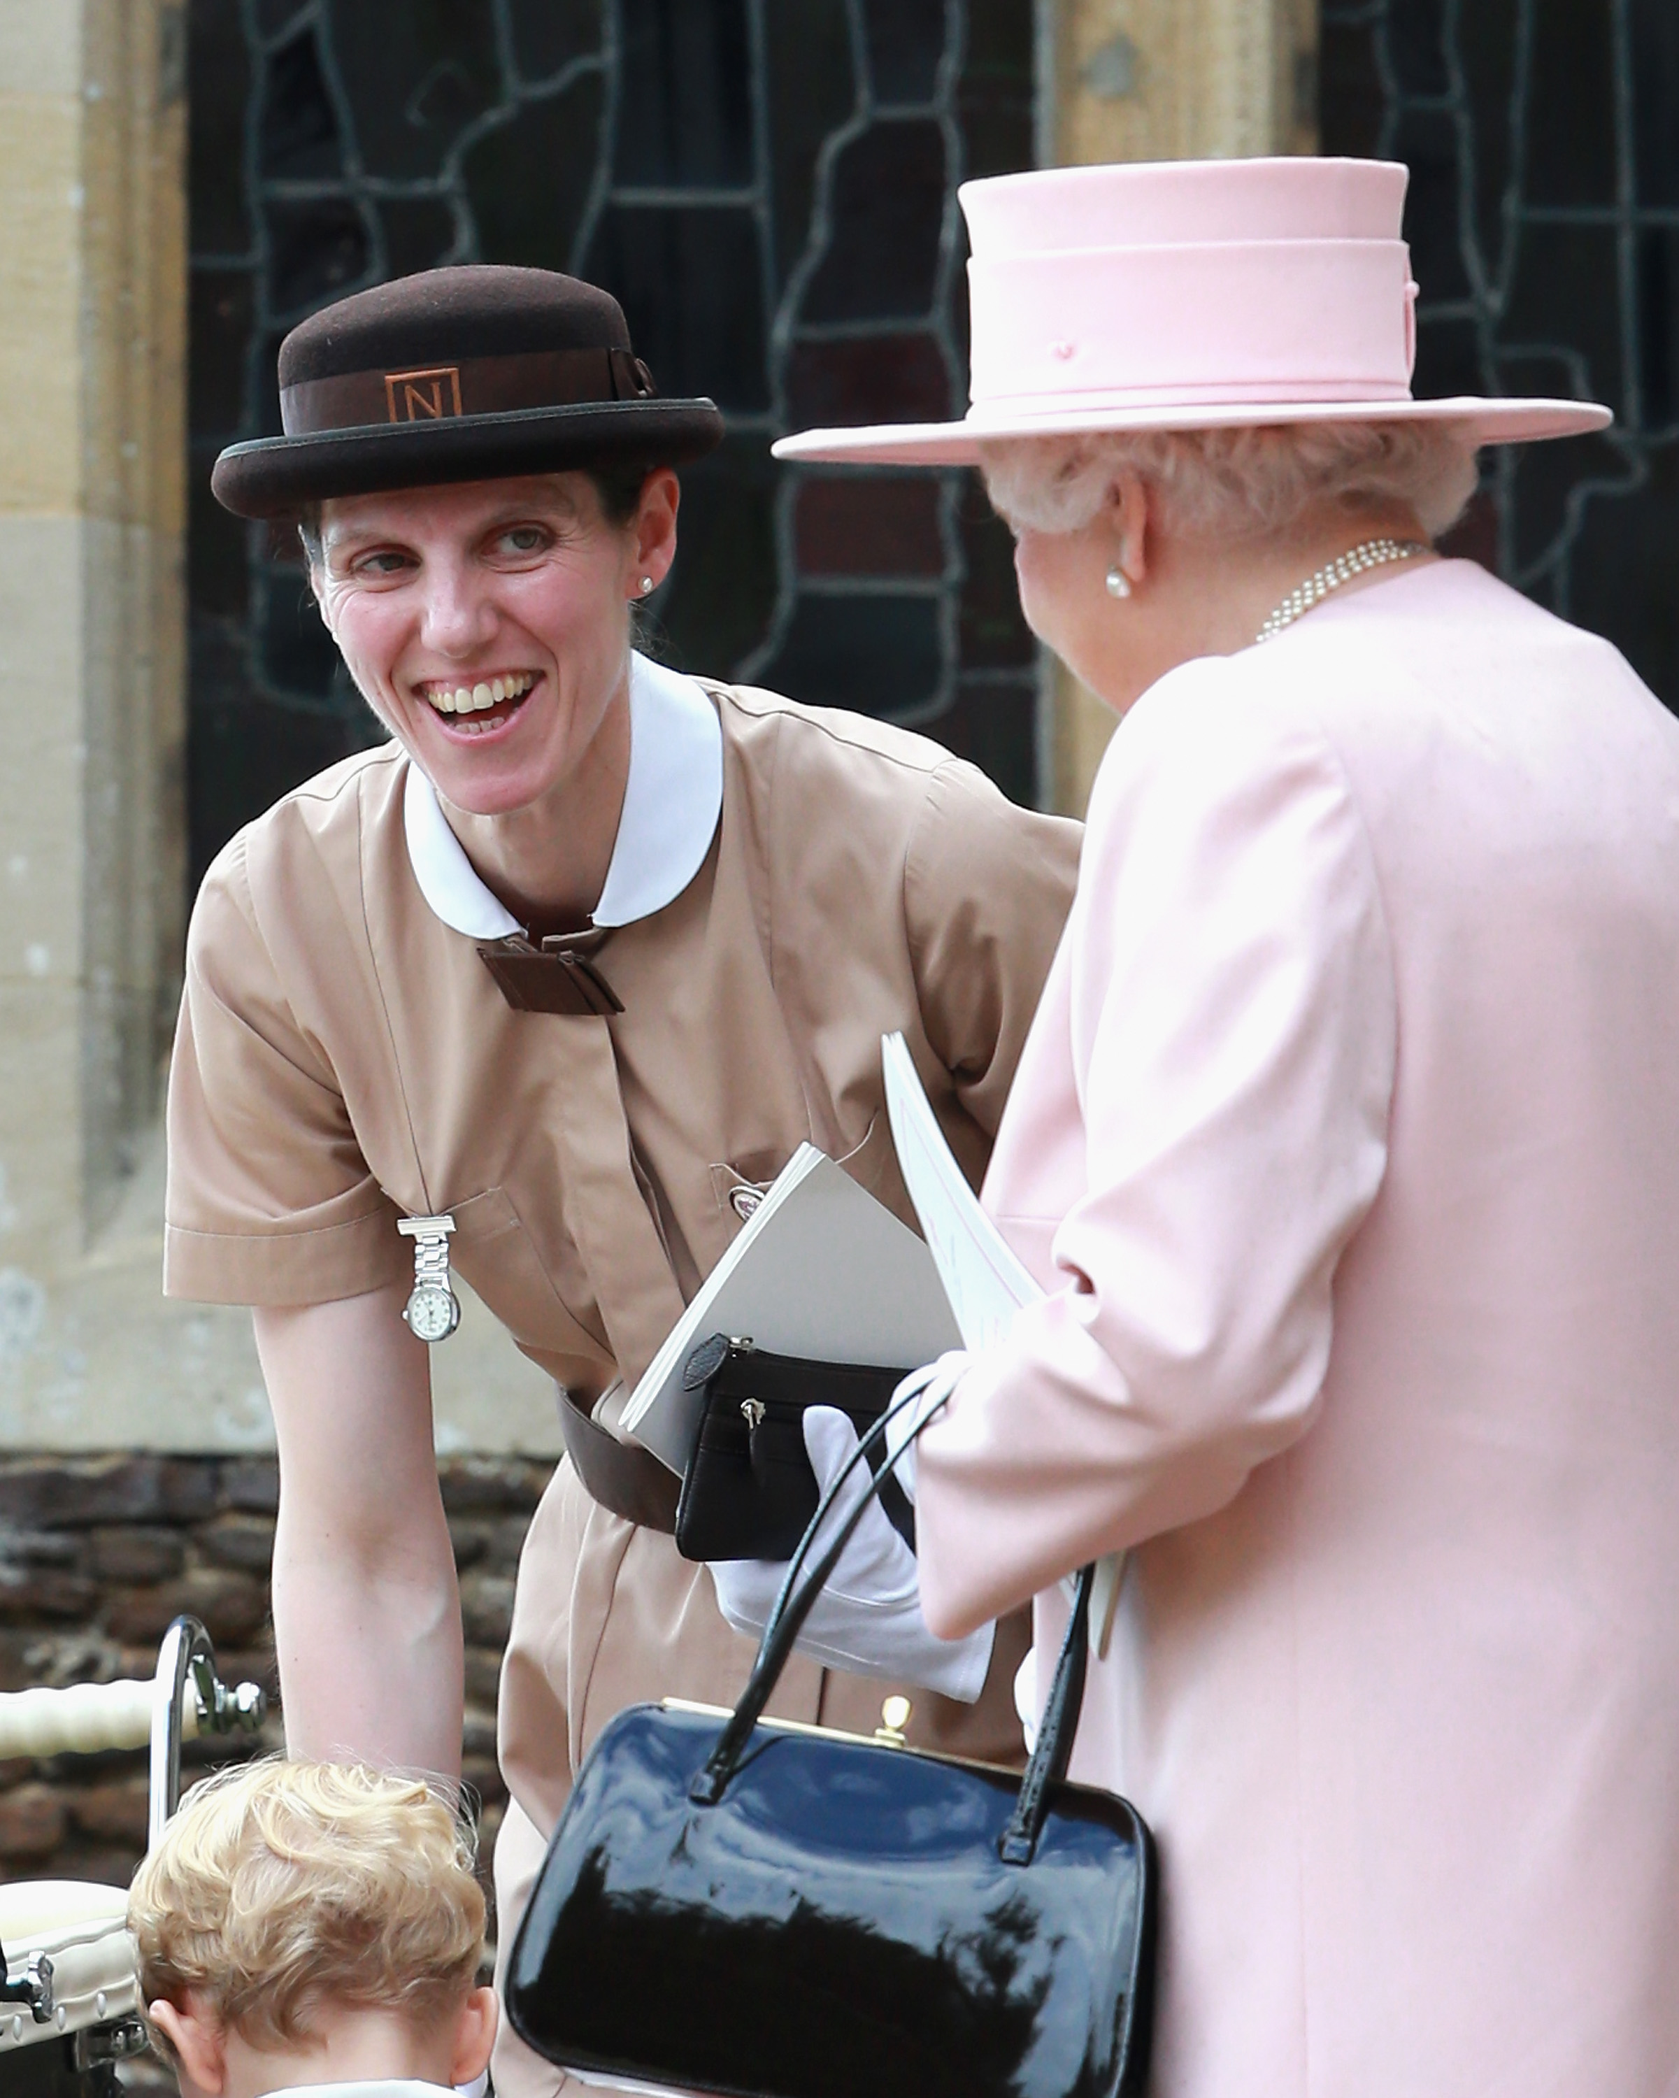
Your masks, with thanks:
[[[886,1074],[886,1114],[892,1141],[898,1146],[909,1198],[928,1248],[938,1263],[938,1276],[951,1309],[961,1326],[963,1347],[989,1347],[1001,1341],[1009,1320],[1026,1305],[1039,1303],[1043,1290],[1009,1250],[1003,1234],[980,1208],[978,1196],[951,1156],[944,1131],[932,1112],[902,1034],[881,1034],[881,1070]],[[1098,1561],[1089,1594],[1089,1643],[1098,1660],[1106,1660],[1112,1636],[1119,1582],[1125,1557],[1110,1553]]]

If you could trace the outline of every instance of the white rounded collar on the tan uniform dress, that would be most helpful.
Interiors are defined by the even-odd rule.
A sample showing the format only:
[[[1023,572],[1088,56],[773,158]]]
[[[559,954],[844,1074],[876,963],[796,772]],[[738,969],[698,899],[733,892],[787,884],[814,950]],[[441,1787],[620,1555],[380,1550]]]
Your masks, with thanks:
[[[722,814],[722,722],[703,686],[630,657],[630,778],[596,925],[653,917],[695,879]],[[481,881],[449,829],[437,789],[409,759],[403,833],[420,894],[453,932],[504,940],[518,919]]]

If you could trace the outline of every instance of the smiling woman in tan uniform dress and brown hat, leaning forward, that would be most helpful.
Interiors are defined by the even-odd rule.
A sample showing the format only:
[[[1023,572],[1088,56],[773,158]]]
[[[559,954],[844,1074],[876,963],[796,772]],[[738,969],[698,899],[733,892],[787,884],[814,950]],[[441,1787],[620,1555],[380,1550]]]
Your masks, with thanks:
[[[279,380],[285,434],[222,453],[214,491],[302,522],[390,741],[285,795],[204,881],[166,1288],[256,1307],[294,1754],[458,1767],[422,1345],[453,1328],[451,1265],[554,1376],[569,1462],[502,1680],[510,1943],[598,1729],[644,1697],[730,1699],[749,1660],[676,1553],[678,1481],[615,1435],[623,1387],[728,1250],[735,1196],[800,1143],[913,1217],[884,1032],[978,1183],[1079,833],[919,736],[634,650],[676,468],[720,420],[657,394],[592,285],[401,279],[302,323]],[[936,1680],[923,1639],[911,1672]],[[911,1735],[1016,1756],[1024,1643],[997,1630],[974,1706],[917,1691]],[[871,1731],[881,1685],[808,1668],[787,1693]],[[516,2098],[554,2073],[506,2039],[495,2081]]]

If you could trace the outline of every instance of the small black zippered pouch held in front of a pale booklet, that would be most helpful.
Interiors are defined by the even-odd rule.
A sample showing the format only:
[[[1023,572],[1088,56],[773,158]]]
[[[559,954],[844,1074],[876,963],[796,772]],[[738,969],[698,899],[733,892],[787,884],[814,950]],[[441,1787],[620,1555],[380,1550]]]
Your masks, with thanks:
[[[879,1420],[909,1370],[806,1362],[714,1332],[682,1366],[682,1389],[705,1393],[695,1452],[676,1504],[684,1559],[791,1559],[816,1513],[804,1450],[808,1406],[835,1406],[858,1437]],[[881,1471],[881,1464],[875,1464]],[[892,1477],[879,1504],[915,1548],[915,1511]]]

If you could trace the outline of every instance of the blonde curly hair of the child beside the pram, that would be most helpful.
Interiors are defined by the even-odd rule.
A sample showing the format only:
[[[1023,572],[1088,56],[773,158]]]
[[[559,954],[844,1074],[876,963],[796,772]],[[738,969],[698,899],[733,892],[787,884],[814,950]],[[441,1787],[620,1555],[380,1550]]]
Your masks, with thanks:
[[[275,1758],[220,1771],[128,1892],[143,2001],[197,1991],[260,2050],[309,2041],[340,2006],[430,2027],[483,1960],[472,1863],[470,1829],[422,1779]]]

